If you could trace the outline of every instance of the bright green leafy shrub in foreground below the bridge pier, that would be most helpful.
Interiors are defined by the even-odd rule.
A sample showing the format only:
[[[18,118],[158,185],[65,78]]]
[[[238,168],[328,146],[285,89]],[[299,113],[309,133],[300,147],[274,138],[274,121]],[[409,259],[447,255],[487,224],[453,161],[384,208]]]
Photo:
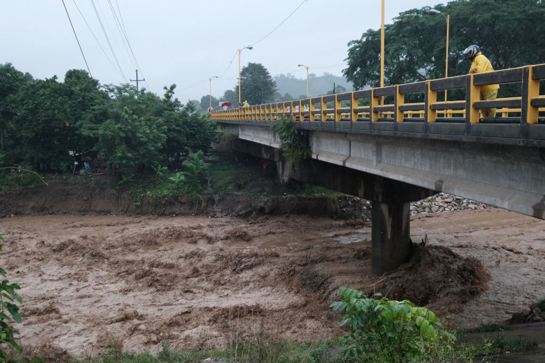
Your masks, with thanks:
[[[364,293],[341,287],[341,302],[331,304],[334,311],[344,312],[340,326],[350,334],[343,337],[343,358],[373,362],[404,362],[429,359],[438,346],[451,347],[454,335],[426,307],[408,300],[401,302],[368,298]],[[441,349],[445,350],[445,349]]]

